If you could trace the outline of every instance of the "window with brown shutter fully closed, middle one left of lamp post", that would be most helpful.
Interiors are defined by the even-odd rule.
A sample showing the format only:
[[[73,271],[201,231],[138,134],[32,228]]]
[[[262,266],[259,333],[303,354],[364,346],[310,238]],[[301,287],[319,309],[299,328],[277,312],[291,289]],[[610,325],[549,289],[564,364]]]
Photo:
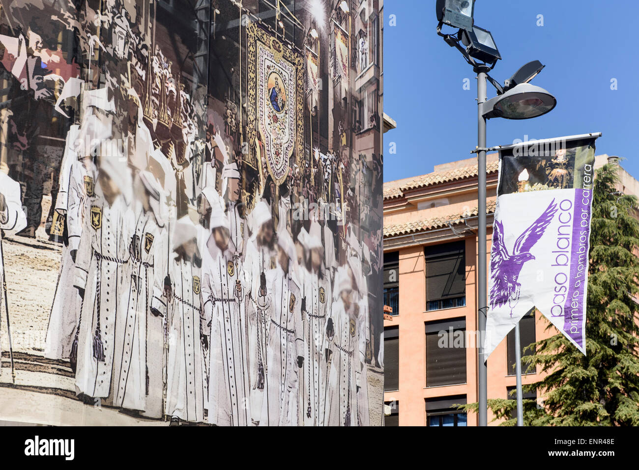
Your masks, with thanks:
[[[466,383],[466,319],[426,322],[426,386]]]

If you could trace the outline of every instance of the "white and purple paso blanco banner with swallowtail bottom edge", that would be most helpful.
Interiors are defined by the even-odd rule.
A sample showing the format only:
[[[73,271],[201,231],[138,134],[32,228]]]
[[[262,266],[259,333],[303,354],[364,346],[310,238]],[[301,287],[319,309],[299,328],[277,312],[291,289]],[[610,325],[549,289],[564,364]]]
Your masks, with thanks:
[[[590,213],[599,136],[500,148],[484,360],[532,308],[586,353]]]

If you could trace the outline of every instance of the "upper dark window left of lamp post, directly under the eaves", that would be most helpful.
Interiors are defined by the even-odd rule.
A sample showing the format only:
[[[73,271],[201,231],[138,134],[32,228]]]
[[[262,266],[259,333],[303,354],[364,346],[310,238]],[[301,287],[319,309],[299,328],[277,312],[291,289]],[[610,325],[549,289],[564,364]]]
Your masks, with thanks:
[[[426,246],[426,310],[466,305],[465,241]]]

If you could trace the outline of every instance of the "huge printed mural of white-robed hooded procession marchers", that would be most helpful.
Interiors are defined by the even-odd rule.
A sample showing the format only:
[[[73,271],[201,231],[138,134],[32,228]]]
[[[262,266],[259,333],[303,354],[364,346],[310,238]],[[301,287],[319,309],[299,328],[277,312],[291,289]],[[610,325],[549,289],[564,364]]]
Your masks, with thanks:
[[[0,419],[382,423],[378,8],[1,1]]]

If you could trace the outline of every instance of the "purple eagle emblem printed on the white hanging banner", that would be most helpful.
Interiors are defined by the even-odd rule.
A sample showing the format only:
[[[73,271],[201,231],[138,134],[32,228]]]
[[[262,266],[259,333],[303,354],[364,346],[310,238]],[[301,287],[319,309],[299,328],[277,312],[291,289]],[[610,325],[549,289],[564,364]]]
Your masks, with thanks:
[[[490,277],[493,280],[493,287],[490,289],[491,308],[508,303],[512,317],[512,309],[517,305],[520,297],[521,284],[517,282],[517,279],[521,268],[525,262],[535,259],[530,254],[530,249],[544,234],[555,213],[557,213],[557,204],[553,199],[543,214],[515,241],[512,254],[508,253],[504,245],[504,225],[495,220],[493,248],[490,254]]]

